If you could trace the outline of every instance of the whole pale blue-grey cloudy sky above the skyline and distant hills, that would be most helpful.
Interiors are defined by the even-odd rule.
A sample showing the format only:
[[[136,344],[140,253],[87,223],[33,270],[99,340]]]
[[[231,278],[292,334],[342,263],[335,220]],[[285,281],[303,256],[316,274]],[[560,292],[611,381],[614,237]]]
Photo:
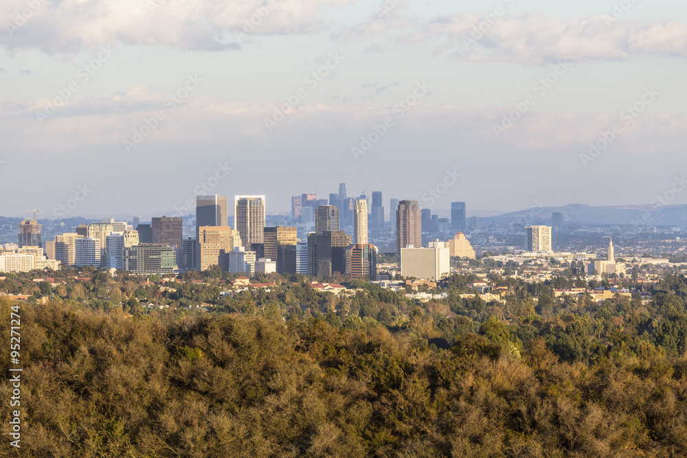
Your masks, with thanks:
[[[3,0],[0,48],[3,216],[687,203],[683,1]]]

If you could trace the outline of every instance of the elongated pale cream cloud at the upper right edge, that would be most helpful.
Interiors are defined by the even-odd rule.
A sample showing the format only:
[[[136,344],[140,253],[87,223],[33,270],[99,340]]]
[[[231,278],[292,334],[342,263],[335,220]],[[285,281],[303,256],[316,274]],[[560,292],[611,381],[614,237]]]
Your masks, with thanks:
[[[384,36],[368,51],[395,45],[436,43],[433,54],[451,60],[544,65],[556,60],[626,60],[634,54],[687,57],[687,24],[614,21],[611,16],[561,19],[541,13],[493,16],[461,13],[418,18],[371,19],[335,35],[341,40]]]

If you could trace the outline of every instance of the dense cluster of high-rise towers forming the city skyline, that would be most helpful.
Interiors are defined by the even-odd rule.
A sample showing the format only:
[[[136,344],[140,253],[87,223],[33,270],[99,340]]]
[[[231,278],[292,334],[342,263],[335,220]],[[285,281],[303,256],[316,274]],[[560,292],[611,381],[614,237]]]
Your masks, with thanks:
[[[390,207],[390,229],[396,232],[398,254],[401,248],[421,247],[423,231],[448,225],[447,219],[432,217],[429,209],[420,211],[417,201],[391,199]],[[180,216],[153,218],[150,224],[140,224],[135,217],[133,226],[114,220],[82,225],[76,233],[56,237],[55,253],[62,254],[56,259],[64,257],[63,263],[82,266],[78,260],[84,256],[78,251],[88,245],[95,251],[88,259],[99,262],[100,267],[141,274],[174,273],[177,268],[204,271],[218,265],[230,273],[376,277],[376,248],[368,243],[368,227],[376,231],[387,227],[381,192],[372,193],[371,211],[368,198],[364,194],[349,198],[343,183],[339,194],[330,194],[329,201],[317,199],[315,194],[295,196],[291,198],[293,227],[265,226],[264,196],[234,196],[234,229],[228,224],[227,209],[227,196],[198,196],[195,238],[186,240]],[[465,204],[452,203],[451,229],[464,231],[465,222]],[[299,231],[301,239],[297,238]],[[23,240],[26,232],[20,225],[20,245],[31,244]],[[71,237],[64,237],[67,235]],[[89,244],[76,242],[77,238],[88,238]]]

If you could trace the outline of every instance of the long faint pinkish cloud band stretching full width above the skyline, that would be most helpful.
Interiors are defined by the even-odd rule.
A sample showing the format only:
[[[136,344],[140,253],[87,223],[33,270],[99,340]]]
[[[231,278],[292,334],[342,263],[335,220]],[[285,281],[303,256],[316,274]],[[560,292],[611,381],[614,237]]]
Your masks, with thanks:
[[[339,104],[302,104],[286,116],[271,133],[264,119],[271,117],[275,105],[264,101],[190,95],[173,109],[166,95],[148,93],[133,87],[124,93],[102,94],[72,100],[57,113],[38,122],[37,111],[45,111],[47,100],[25,98],[0,100],[0,137],[11,150],[66,151],[77,146],[118,148],[131,139],[134,130],[146,119],[164,111],[166,117],[153,129],[139,150],[160,148],[163,144],[243,144],[302,142],[304,138],[330,141],[348,138],[328,149],[350,154],[371,126],[394,117],[388,138],[398,136],[442,138],[461,148],[478,152],[544,151],[578,154],[589,150],[600,133],[620,122],[617,113],[597,116],[562,112],[530,112],[497,139],[494,126],[502,122],[504,111],[495,108],[463,108],[452,104],[418,103],[402,119],[396,119],[392,106],[349,101]],[[385,137],[386,138],[386,137]],[[640,116],[617,135],[609,152],[634,154],[675,150],[687,141],[687,116],[664,113]]]

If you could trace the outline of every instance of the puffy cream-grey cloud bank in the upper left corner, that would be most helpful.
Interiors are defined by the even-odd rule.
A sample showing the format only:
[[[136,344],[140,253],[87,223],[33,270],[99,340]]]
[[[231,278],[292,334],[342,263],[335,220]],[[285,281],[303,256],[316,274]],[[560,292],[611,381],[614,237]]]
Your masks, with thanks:
[[[238,48],[238,38],[306,34],[326,25],[319,12],[357,0],[3,0],[0,22],[9,51],[74,54],[102,45]],[[31,4],[31,5],[29,5]],[[2,20],[4,19],[4,20]]]

